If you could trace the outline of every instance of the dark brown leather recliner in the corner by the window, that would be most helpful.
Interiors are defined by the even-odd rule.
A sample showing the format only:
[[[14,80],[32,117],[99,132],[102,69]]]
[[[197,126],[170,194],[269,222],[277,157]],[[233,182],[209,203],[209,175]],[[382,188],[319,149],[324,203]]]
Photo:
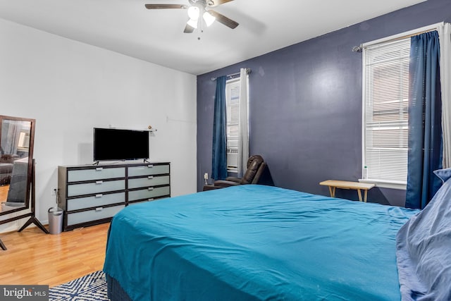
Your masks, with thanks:
[[[226,180],[216,180],[213,185],[204,185],[204,191],[236,185],[257,184],[265,167],[266,163],[259,154],[249,156],[247,160],[247,171],[242,178],[227,177]]]

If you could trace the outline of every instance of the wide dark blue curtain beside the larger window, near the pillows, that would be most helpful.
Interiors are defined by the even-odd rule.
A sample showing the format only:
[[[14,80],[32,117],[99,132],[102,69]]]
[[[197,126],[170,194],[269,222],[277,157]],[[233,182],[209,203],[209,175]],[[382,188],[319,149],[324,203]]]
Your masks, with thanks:
[[[409,151],[406,207],[423,209],[440,188],[433,174],[442,167],[438,32],[411,38],[409,65]]]

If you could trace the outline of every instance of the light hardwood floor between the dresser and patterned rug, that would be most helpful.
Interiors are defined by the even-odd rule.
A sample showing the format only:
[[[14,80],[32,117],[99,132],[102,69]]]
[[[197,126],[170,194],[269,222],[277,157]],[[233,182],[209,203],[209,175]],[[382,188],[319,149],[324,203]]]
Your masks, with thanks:
[[[103,268],[109,223],[45,234],[39,228],[0,233],[0,284],[53,287]]]

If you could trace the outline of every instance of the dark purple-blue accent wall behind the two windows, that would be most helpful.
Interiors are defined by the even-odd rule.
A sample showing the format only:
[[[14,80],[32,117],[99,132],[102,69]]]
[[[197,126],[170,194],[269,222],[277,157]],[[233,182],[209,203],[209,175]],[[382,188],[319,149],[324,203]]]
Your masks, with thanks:
[[[202,190],[204,173],[211,174],[216,87],[211,78],[240,68],[252,68],[250,154],[264,157],[274,185],[328,195],[322,180],[361,178],[362,53],[352,48],[442,21],[451,21],[451,1],[428,0],[199,75],[197,189]],[[337,190],[336,196],[358,199],[354,190]],[[404,206],[405,191],[373,188],[369,201]]]

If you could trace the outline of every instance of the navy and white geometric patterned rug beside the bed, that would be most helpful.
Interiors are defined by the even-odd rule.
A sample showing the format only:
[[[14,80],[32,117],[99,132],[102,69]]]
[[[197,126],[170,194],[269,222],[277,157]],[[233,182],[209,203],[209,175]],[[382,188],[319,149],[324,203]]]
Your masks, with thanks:
[[[81,278],[49,289],[49,301],[83,300],[107,301],[106,279],[103,271],[96,271]]]

